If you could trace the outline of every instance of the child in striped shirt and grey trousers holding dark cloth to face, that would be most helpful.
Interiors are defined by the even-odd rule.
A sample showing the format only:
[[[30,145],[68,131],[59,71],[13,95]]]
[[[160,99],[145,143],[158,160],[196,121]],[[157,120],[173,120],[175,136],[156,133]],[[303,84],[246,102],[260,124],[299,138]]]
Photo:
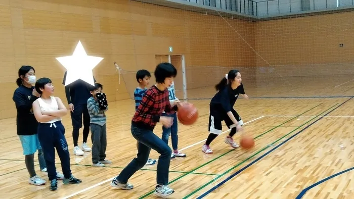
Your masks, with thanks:
[[[106,114],[108,106],[101,109],[97,102],[97,93],[102,93],[102,84],[95,83],[92,86],[90,93],[92,97],[87,100],[87,110],[90,114],[90,128],[92,140],[92,163],[94,167],[104,167],[104,164],[112,163],[106,160],[106,146],[107,146],[107,133],[106,133]]]

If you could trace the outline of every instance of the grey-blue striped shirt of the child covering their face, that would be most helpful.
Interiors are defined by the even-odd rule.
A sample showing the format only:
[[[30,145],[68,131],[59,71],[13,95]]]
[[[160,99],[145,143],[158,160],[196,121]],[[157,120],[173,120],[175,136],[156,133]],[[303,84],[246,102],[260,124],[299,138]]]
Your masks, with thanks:
[[[98,124],[101,126],[106,124],[105,112],[108,110],[108,107],[106,110],[100,111],[100,108],[95,98],[90,97],[89,100],[87,100],[87,110],[89,110],[91,124]]]

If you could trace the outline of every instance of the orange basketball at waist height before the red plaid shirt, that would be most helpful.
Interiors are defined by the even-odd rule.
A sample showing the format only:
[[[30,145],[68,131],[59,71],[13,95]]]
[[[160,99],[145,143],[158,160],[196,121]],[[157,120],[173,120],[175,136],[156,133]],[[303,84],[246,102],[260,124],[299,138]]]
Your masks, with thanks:
[[[180,103],[177,111],[178,120],[183,125],[192,125],[198,119],[198,110],[191,103]]]

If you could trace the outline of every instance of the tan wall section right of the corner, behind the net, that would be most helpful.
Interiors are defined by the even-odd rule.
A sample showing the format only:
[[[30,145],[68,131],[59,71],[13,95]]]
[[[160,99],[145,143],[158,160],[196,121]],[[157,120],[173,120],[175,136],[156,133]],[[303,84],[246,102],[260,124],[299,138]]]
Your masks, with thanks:
[[[354,75],[353,18],[346,12],[256,22],[255,48],[262,57],[256,66],[272,66],[283,77]]]

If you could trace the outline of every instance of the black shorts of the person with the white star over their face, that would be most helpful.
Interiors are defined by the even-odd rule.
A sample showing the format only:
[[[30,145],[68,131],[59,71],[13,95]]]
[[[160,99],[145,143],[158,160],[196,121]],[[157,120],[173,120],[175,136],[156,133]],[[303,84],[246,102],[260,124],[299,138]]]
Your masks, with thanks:
[[[74,113],[70,112],[71,122],[73,129],[80,129],[82,127],[82,115],[83,126],[90,126],[90,115],[87,110],[87,104],[74,105]]]

